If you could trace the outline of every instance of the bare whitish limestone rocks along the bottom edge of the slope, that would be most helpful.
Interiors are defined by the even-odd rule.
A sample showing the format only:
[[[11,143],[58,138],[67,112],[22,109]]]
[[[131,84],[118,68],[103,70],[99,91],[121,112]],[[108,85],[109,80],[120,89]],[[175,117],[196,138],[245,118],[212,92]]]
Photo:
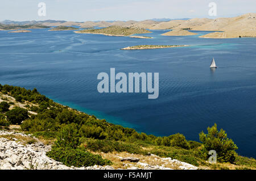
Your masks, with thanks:
[[[32,144],[24,144],[15,137],[33,138],[35,142]],[[113,170],[112,166],[89,166],[89,167],[68,167],[60,162],[57,162],[46,156],[47,151],[51,150],[50,145],[44,145],[30,134],[0,131],[0,170]],[[148,163],[140,162],[134,157],[118,157],[123,162],[123,165],[129,170],[173,170],[170,167],[149,165]],[[156,155],[151,155],[156,159]],[[160,158],[160,157],[158,157]],[[188,163],[180,162],[171,158],[160,158],[164,163],[170,163],[180,170],[195,170],[197,167]],[[130,162],[130,163],[127,163]],[[135,164],[131,164],[135,163]]]

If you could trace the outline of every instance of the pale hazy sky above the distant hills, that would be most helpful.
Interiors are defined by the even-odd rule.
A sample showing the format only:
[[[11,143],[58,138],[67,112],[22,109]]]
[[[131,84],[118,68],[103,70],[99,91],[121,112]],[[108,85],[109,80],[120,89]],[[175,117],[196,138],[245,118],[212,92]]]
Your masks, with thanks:
[[[38,15],[39,2],[46,16]],[[210,2],[217,16],[209,16]],[[218,18],[256,12],[256,0],[1,0],[0,20],[145,20],[152,18]]]

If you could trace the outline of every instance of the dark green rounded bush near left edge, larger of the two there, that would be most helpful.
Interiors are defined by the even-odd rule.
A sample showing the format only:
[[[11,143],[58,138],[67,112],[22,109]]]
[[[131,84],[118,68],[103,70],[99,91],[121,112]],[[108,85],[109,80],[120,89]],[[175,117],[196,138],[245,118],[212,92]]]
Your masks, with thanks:
[[[28,118],[28,112],[23,108],[16,107],[13,110],[7,111],[6,116],[11,124],[20,124]]]

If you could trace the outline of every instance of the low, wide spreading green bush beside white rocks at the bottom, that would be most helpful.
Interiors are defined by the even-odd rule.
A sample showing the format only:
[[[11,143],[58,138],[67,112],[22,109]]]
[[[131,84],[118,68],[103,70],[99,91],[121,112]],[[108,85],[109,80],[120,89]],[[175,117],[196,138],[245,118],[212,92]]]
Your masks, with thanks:
[[[72,149],[53,147],[46,155],[58,162],[64,163],[64,165],[67,166],[86,167],[112,164],[108,159],[102,159],[101,155],[92,154],[80,148]]]

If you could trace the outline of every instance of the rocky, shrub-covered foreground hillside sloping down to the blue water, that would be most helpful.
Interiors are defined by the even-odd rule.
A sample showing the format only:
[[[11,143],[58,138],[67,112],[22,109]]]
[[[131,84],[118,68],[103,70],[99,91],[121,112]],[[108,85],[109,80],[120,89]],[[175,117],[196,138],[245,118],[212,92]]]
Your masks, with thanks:
[[[209,164],[204,144],[183,134],[138,133],[57,104],[36,89],[0,85],[0,112],[1,169],[256,169],[255,159],[236,154],[233,164]]]

